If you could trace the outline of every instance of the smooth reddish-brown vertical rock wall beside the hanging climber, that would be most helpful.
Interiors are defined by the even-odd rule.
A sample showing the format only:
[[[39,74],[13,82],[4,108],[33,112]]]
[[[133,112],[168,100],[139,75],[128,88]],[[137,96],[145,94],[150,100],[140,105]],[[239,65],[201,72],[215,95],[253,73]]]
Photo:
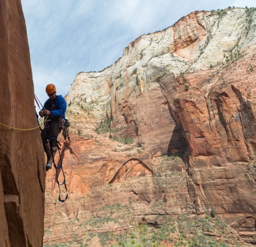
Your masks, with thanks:
[[[0,1],[0,54],[0,122],[34,128],[34,86],[20,1]],[[0,125],[1,246],[42,246],[43,164],[39,129]]]

